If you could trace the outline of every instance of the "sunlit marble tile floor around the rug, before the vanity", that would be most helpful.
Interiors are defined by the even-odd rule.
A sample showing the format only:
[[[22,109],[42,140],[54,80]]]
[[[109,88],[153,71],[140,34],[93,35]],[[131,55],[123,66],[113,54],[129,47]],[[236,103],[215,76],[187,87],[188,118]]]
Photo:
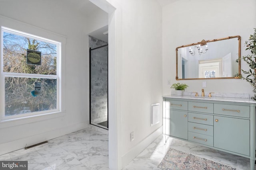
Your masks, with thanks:
[[[176,149],[182,152],[194,154],[201,158],[206,158],[214,162],[232,166],[237,170],[250,170],[250,159],[234,154],[229,154],[201,145],[196,145],[186,141],[174,138],[168,138],[166,145],[163,145],[162,135],[144,149],[136,158],[134,158],[123,170],[162,170],[158,168],[162,158],[164,158],[168,149]],[[196,170],[196,169],[195,169]],[[256,170],[256,166],[254,167]]]

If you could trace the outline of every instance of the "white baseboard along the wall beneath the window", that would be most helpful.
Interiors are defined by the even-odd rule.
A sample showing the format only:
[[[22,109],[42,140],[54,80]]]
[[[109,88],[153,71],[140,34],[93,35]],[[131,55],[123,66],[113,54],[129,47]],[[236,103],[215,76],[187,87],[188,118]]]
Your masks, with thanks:
[[[79,131],[79,130],[84,129],[86,127],[88,127],[88,123],[83,122],[83,123],[79,123],[79,124],[76,124],[76,125],[70,125],[68,127],[55,129],[53,131],[48,131],[48,132],[44,132],[44,133],[41,133],[41,134],[33,135],[33,136],[26,137],[26,138],[23,138],[23,139],[19,139],[19,140],[16,140],[16,141],[3,143],[3,144],[0,144],[0,148],[1,148],[0,149],[0,155],[12,152],[14,150],[23,149],[24,147],[30,146],[30,144],[34,145],[34,144],[44,142],[44,141],[47,141],[47,140],[50,140],[50,139],[54,139],[56,137],[60,137],[60,136],[63,136],[63,135],[66,135],[66,134],[69,134],[69,133],[72,133],[72,132],[75,132],[75,131]]]

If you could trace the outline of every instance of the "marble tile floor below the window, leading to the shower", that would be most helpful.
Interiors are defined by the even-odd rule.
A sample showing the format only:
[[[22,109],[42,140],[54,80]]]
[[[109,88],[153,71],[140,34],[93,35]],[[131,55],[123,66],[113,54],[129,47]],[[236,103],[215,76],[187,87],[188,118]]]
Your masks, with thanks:
[[[28,160],[29,170],[108,170],[108,135],[86,128],[0,160]]]

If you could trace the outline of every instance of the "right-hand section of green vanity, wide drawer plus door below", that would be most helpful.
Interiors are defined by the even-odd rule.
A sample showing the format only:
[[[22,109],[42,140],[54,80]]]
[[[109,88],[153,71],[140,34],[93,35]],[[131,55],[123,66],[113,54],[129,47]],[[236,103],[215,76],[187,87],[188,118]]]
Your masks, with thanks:
[[[250,156],[248,104],[214,104],[214,147]]]

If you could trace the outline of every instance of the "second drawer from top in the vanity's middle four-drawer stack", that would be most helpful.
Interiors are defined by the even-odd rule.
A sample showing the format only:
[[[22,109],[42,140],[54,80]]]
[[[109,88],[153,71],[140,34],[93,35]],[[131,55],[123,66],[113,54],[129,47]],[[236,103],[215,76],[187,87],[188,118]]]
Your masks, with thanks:
[[[194,123],[202,123],[205,125],[213,125],[213,115],[188,113],[188,121]]]

